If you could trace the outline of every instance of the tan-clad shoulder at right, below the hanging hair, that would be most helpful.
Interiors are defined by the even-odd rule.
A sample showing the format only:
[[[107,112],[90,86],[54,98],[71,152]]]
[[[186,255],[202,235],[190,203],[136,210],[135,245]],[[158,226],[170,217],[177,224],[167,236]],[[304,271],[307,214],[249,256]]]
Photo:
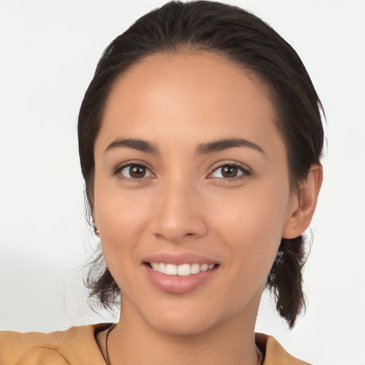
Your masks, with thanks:
[[[277,339],[267,334],[255,334],[255,341],[264,354],[263,365],[309,365],[290,355]]]

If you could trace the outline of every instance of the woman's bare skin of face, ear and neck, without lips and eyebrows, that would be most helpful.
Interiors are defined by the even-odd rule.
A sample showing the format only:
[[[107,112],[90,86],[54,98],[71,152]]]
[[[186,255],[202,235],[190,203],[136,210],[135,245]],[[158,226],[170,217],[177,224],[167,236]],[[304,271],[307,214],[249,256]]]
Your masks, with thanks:
[[[123,292],[108,341],[112,364],[257,363],[265,279],[281,238],[307,229],[322,182],[313,165],[299,195],[292,191],[275,118],[267,88],[215,53],[149,56],[115,84],[95,143],[93,206]],[[108,149],[120,138],[148,141],[158,153]],[[197,155],[202,143],[230,138],[259,148]],[[130,161],[147,168],[144,178],[118,170]],[[222,164],[232,163],[243,170],[224,177]],[[219,265],[197,289],[170,294],[145,274],[143,258],[160,252],[193,252]],[[98,341],[105,351],[105,333]]]

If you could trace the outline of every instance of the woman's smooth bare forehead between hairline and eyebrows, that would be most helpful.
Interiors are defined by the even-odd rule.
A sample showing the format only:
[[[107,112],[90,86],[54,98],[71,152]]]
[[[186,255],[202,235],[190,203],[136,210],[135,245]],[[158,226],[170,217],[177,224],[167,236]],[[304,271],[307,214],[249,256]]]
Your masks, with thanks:
[[[271,140],[276,112],[264,83],[207,51],[158,53],[135,63],[110,91],[98,140],[143,138],[202,143]]]

